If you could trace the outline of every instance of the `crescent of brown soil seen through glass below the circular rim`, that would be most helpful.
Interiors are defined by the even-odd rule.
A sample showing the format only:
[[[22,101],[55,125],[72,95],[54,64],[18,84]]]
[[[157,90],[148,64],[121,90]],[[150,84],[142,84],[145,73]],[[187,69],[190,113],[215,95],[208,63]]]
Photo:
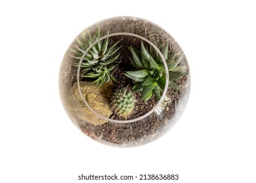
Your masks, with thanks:
[[[182,77],[177,83],[181,84],[183,89],[167,90],[167,97],[171,99],[171,102],[167,103],[160,115],[153,112],[144,120],[129,124],[108,122],[102,125],[93,125],[82,122],[80,128],[92,139],[102,141],[105,144],[109,143],[112,146],[131,147],[152,142],[164,135],[173,126],[175,114],[180,112],[179,110],[182,111],[182,108],[177,108],[177,106],[180,103],[186,103],[186,100],[181,100],[181,97],[188,99],[189,92],[186,92],[189,90],[188,76]]]

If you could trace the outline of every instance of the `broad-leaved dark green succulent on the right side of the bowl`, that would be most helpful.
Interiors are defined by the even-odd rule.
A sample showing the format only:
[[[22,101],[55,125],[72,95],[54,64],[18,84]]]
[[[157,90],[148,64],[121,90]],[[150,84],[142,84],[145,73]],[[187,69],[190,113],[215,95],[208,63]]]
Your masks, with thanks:
[[[154,42],[154,41],[153,41]],[[154,44],[157,46],[156,42]],[[135,50],[129,48],[133,58],[129,58],[131,63],[137,69],[137,71],[126,71],[125,75],[136,83],[133,86],[133,91],[142,91],[142,99],[147,101],[154,96],[156,99],[161,98],[161,93],[165,87],[165,67],[163,61],[158,52],[150,46],[145,48],[143,42],[141,42],[141,50]],[[187,73],[184,73],[185,66],[179,65],[182,61],[184,54],[177,57],[175,51],[168,53],[169,43],[166,42],[165,46],[161,49],[161,54],[165,59],[169,72],[169,88],[175,88],[180,90],[181,88],[174,82]]]

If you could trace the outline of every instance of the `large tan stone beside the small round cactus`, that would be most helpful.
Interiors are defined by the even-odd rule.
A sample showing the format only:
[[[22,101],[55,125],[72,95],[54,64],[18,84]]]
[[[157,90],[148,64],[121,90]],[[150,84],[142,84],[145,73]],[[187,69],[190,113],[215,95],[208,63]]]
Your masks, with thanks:
[[[91,84],[91,82],[79,82],[79,84],[83,97],[90,107],[102,116],[110,118],[112,115],[110,97],[112,95],[113,82],[110,80],[109,82],[102,84],[100,88],[98,88],[96,84]],[[79,91],[77,90],[76,82],[70,89],[69,96],[68,108],[70,108],[74,116],[94,125],[100,125],[108,122],[96,116],[87,107],[87,105],[85,105]]]

